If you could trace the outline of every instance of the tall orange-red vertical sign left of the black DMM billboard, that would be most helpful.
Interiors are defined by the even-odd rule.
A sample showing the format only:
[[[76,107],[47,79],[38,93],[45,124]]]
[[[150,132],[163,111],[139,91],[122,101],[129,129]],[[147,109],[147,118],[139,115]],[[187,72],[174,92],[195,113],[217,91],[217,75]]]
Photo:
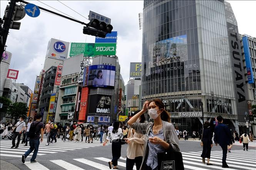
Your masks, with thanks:
[[[89,94],[89,88],[88,87],[82,87],[81,92],[81,98],[80,98],[80,110],[79,110],[79,121],[85,121],[85,116],[87,112],[87,106],[88,106],[88,94]]]

